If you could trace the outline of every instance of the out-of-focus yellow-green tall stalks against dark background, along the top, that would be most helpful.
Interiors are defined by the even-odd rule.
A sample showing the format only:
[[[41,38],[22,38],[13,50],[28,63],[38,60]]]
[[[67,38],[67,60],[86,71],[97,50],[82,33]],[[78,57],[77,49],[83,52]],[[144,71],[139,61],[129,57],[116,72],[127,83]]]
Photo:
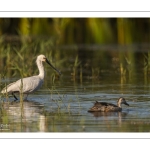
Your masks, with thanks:
[[[0,18],[0,35],[53,37],[65,45],[129,44],[149,42],[149,24],[149,18]]]

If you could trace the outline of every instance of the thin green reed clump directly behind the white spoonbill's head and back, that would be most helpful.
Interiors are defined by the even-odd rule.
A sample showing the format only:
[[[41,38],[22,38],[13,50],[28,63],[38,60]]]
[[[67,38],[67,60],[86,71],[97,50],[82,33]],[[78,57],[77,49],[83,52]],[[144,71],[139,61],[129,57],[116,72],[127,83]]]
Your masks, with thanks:
[[[51,40],[41,40],[40,42],[35,40],[35,42],[26,42],[20,46],[14,46],[11,43],[0,43],[0,71],[5,72],[6,76],[16,76],[19,75],[16,68],[20,68],[23,70],[24,77],[30,76],[37,72],[33,69],[36,66],[36,56],[44,54],[49,58],[52,51],[53,44]]]

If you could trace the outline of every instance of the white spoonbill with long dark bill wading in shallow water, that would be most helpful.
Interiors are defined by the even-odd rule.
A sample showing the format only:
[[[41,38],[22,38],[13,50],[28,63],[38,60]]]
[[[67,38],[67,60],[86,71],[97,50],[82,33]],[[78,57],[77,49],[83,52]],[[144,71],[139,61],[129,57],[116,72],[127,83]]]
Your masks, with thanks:
[[[24,99],[26,99],[29,93],[38,90],[43,84],[45,75],[44,66],[42,62],[47,62],[54,70],[61,74],[60,71],[57,70],[44,55],[39,55],[36,59],[36,64],[39,69],[39,75],[23,78],[16,82],[10,83],[1,91],[1,93],[12,94],[15,100],[18,100],[15,96],[15,93],[25,94],[26,97]]]

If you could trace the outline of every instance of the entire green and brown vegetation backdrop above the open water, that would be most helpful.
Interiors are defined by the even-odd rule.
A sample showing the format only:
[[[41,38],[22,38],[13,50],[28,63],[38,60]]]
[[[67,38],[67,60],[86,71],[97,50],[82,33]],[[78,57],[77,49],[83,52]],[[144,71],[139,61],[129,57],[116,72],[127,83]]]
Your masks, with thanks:
[[[43,53],[73,79],[113,69],[131,80],[140,72],[147,82],[149,41],[149,18],[0,18],[0,71],[34,74]]]

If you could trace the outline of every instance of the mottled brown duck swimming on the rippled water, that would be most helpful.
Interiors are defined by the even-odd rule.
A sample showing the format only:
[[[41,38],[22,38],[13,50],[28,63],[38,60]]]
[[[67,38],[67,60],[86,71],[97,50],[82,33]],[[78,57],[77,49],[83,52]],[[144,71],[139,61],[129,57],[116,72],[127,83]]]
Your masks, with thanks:
[[[88,112],[120,112],[122,111],[121,104],[129,106],[125,98],[120,97],[117,101],[117,105],[107,103],[107,102],[98,102],[94,103],[94,106],[88,110]]]

